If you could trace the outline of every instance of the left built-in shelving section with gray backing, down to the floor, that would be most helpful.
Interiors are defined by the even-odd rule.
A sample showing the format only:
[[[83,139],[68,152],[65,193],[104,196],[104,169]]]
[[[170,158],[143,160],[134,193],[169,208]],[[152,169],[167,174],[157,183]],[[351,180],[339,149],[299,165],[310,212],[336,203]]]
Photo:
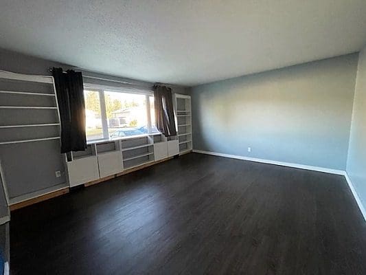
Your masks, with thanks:
[[[47,153],[60,148],[54,78],[0,71],[0,102],[0,173],[8,205],[67,188],[63,156]]]

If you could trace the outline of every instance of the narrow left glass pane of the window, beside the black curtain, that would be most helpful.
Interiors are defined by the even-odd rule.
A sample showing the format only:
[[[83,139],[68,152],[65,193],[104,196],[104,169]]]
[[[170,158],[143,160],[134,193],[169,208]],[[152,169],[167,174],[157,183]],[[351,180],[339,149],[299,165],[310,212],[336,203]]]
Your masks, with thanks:
[[[103,138],[102,115],[98,91],[84,91],[87,140]]]

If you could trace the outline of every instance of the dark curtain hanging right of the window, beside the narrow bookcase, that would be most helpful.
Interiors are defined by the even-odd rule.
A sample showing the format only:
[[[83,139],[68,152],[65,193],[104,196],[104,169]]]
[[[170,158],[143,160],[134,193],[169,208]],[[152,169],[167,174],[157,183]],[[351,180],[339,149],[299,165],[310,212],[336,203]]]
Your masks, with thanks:
[[[176,135],[172,89],[165,86],[154,86],[155,123],[157,129],[170,137]]]

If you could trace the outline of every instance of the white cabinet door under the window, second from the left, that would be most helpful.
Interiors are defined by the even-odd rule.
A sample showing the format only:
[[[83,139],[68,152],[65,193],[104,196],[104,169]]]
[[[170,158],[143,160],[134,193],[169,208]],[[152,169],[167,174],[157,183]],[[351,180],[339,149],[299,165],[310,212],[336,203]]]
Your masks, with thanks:
[[[122,172],[122,152],[112,151],[98,155],[100,177],[108,177]]]

